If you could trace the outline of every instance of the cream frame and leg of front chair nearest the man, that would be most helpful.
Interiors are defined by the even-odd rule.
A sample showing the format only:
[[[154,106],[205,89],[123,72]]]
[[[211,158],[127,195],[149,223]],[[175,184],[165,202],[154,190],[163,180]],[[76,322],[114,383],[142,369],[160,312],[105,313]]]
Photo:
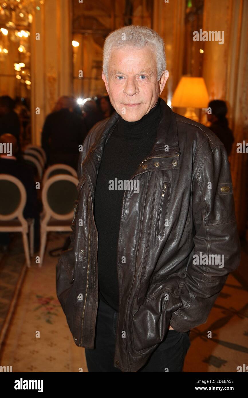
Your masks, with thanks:
[[[53,217],[56,220],[61,220],[61,221],[66,221],[66,220],[72,220],[73,215],[74,215],[74,210],[70,211],[68,214],[57,214],[55,213],[51,207],[49,206],[49,203],[47,201],[47,191],[49,187],[56,181],[71,181],[73,182],[76,187],[78,186],[78,179],[75,178],[74,176],[69,176],[68,174],[58,174],[57,176],[53,176],[49,179],[47,179],[45,185],[43,186],[42,190],[42,203],[43,203],[43,209],[44,209],[44,218],[41,221],[41,246],[40,246],[40,262],[39,262],[39,267],[42,266],[43,263],[43,258],[44,258],[44,253],[45,253],[45,246],[47,242],[47,232],[61,232],[61,231],[71,231],[71,224],[63,224],[61,222],[61,225],[48,225],[49,220],[51,217]]]

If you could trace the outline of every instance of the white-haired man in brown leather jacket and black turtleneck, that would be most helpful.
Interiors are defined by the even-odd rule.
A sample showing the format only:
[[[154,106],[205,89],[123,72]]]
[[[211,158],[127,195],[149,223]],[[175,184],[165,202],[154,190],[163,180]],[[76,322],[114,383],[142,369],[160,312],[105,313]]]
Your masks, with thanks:
[[[159,98],[168,76],[152,29],[106,38],[116,112],[84,142],[72,243],[57,264],[57,296],[90,372],[181,372],[189,331],[207,322],[240,260],[227,152]]]

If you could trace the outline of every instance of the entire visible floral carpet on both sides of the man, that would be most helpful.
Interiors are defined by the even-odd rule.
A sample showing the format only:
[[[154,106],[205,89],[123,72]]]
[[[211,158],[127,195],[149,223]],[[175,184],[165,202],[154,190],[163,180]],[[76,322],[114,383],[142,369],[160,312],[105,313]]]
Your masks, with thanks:
[[[51,233],[43,267],[33,259],[31,268],[26,269],[0,350],[0,365],[12,366],[13,372],[87,372],[84,349],[75,345],[57,300],[58,258],[48,254],[62,246],[66,236]],[[13,249],[9,256],[12,261],[7,258],[5,263],[12,263],[12,268],[7,271],[5,267],[5,273],[16,267],[20,274],[20,249],[19,254]],[[244,254],[242,261],[247,262],[247,257]],[[24,256],[22,265],[23,261]],[[1,274],[0,280],[2,283]],[[7,298],[4,300],[6,304]],[[1,296],[1,308],[6,307],[3,304]],[[209,330],[211,338],[207,337]],[[184,372],[236,372],[237,366],[248,364],[248,291],[233,275],[229,275],[207,323],[191,330],[190,338]]]

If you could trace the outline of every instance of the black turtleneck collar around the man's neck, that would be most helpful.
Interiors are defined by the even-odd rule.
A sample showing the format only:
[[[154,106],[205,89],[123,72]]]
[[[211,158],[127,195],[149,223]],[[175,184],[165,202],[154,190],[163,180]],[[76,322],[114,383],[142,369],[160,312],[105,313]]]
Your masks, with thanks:
[[[119,120],[117,123],[117,130],[119,133],[124,135],[125,137],[144,137],[147,135],[149,131],[151,131],[151,127],[156,124],[160,117],[160,98],[156,105],[140,120],[135,122],[128,122],[119,115]]]

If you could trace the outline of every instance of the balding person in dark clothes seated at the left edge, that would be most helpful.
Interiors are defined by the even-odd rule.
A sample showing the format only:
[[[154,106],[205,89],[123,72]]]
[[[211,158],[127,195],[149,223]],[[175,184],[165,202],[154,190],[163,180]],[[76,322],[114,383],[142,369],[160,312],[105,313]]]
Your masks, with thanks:
[[[25,219],[35,219],[35,251],[39,250],[39,212],[41,211],[41,203],[37,199],[37,189],[35,188],[35,175],[33,168],[24,162],[21,162],[16,156],[18,152],[18,143],[16,137],[12,134],[3,134],[0,137],[0,142],[12,144],[12,156],[7,156],[5,153],[0,153],[0,174],[10,174],[18,178],[24,185],[27,200],[23,210],[23,217]],[[0,234],[0,243],[3,246],[8,246],[10,237],[7,232]]]

